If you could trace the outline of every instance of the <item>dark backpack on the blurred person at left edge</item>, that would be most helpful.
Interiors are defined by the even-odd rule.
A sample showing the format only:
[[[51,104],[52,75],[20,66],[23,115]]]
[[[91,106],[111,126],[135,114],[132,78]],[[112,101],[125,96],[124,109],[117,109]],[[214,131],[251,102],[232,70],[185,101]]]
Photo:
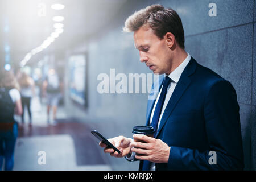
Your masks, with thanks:
[[[15,104],[9,94],[10,89],[0,88],[0,123],[15,122],[14,108]]]

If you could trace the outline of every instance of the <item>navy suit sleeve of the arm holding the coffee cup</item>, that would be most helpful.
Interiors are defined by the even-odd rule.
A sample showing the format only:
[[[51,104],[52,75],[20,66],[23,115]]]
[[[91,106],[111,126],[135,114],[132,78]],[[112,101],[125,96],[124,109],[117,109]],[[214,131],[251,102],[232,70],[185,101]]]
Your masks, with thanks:
[[[209,150],[171,146],[168,169],[242,170],[239,105],[230,82],[220,80],[210,87],[205,96],[203,114]],[[210,151],[216,152],[216,164],[211,163],[214,154]]]

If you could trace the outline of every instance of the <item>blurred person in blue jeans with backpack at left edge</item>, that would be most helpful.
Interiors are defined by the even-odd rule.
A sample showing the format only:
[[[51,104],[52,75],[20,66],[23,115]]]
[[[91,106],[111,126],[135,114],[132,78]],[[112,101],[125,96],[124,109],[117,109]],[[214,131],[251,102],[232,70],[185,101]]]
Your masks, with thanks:
[[[14,166],[14,147],[18,137],[18,124],[14,114],[22,115],[22,101],[18,82],[10,71],[0,71],[0,170],[5,159],[5,170]]]

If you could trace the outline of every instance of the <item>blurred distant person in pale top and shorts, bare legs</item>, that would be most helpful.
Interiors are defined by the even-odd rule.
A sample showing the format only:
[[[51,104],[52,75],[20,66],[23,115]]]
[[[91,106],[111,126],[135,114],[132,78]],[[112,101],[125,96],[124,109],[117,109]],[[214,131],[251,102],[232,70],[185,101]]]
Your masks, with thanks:
[[[55,69],[49,69],[46,80],[43,82],[43,97],[47,97],[47,122],[56,124],[56,113],[59,105],[62,83]],[[50,111],[53,110],[53,121],[51,122]]]

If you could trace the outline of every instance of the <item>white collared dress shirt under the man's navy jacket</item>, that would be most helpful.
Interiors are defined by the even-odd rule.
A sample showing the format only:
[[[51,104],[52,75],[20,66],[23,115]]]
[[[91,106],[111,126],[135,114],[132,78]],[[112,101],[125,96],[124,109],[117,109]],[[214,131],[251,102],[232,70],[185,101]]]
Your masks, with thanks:
[[[158,127],[160,125],[160,122],[161,122],[161,119],[162,119],[162,116],[163,116],[163,113],[164,113],[164,110],[166,110],[166,106],[172,96],[172,92],[174,92],[174,89],[177,85],[177,82],[179,81],[180,79],[180,76],[181,76],[181,73],[184,71],[185,67],[187,66],[187,64],[189,63],[189,61],[191,60],[191,56],[189,55],[189,53],[187,53],[188,56],[186,57],[186,59],[179,65],[179,67],[177,67],[174,71],[172,71],[170,73],[170,75],[168,75],[169,78],[171,78],[171,83],[170,85],[168,86],[167,88],[167,93],[166,93],[166,98],[164,99],[164,104],[163,104],[163,108],[162,108],[162,111],[161,111],[161,114],[160,114],[160,117],[159,117],[159,122],[158,122]],[[166,73],[164,73],[164,77],[166,77]],[[163,87],[163,86],[162,86]],[[158,103],[158,100],[159,100],[159,97],[160,97],[160,94],[162,92],[162,88],[160,89],[160,92],[158,94],[158,97],[156,98],[156,101],[155,101],[155,105],[152,109],[152,112],[151,112],[151,115],[150,115],[150,123],[152,122],[152,119],[153,119],[153,115],[155,113],[155,107],[156,107],[156,104]],[[151,163],[151,167],[150,167],[150,170],[151,171],[155,171],[155,163]]]

